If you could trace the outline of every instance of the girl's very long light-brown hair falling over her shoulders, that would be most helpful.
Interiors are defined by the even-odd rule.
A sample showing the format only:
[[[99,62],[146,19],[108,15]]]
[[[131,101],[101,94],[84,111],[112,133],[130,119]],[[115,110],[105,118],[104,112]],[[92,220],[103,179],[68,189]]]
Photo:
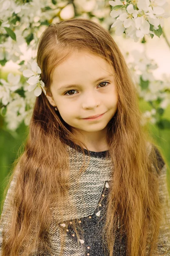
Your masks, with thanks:
[[[120,233],[127,234],[127,255],[144,256],[149,241],[151,256],[159,235],[161,205],[158,175],[154,168],[157,166],[156,154],[154,150],[150,154],[147,150],[147,143],[153,144],[153,141],[141,125],[136,86],[109,32],[91,20],[76,18],[51,24],[41,35],[37,63],[47,92],[50,93],[54,68],[75,50],[88,51],[107,61],[113,67],[118,92],[117,111],[108,129],[108,151],[114,172],[103,239],[109,256],[113,256],[117,212],[122,224]],[[50,252],[51,205],[58,207],[61,212],[58,218],[62,220],[62,207],[70,187],[66,150],[70,142],[75,147],[79,145],[83,155],[83,148],[88,150],[41,93],[34,105],[25,150],[16,161],[13,172],[16,186],[12,190],[13,210],[10,226],[5,229],[3,256],[19,253],[28,256],[37,248]],[[85,160],[80,172],[84,170]]]

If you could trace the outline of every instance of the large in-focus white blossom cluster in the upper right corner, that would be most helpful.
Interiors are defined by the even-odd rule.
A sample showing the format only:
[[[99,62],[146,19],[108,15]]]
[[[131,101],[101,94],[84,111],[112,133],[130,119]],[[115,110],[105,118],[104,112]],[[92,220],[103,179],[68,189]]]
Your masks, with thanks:
[[[127,38],[130,37],[135,42],[143,38],[144,35],[161,35],[161,31],[159,31],[159,34],[155,34],[153,29],[158,30],[159,25],[163,27],[163,17],[170,16],[165,12],[167,6],[166,0],[131,0],[128,2],[128,5],[127,2],[125,3],[120,0],[109,1],[109,3],[111,6],[122,6],[122,8],[118,7],[117,10],[113,9],[110,13],[113,18],[116,18],[112,27],[120,26],[117,20],[123,21]],[[124,8],[126,5],[127,7]],[[153,25],[153,29],[151,30],[150,24]],[[116,35],[122,35],[121,32],[115,33]]]

